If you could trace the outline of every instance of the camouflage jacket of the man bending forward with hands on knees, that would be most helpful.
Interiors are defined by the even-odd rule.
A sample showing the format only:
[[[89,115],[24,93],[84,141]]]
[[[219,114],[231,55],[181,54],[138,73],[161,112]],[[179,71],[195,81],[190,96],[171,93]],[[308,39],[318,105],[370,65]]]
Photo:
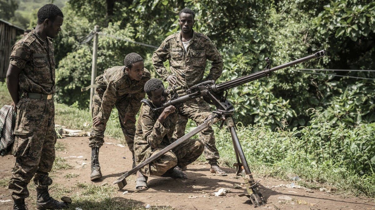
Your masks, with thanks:
[[[96,84],[107,86],[107,89],[95,89],[93,102],[101,105],[101,111],[98,113],[99,119],[107,122],[115,103],[125,97],[130,101],[126,107],[126,113],[129,116],[135,116],[141,107],[141,100],[145,96],[144,84],[150,77],[150,72],[144,69],[141,80],[130,80],[124,66],[108,68],[103,74],[96,77]]]

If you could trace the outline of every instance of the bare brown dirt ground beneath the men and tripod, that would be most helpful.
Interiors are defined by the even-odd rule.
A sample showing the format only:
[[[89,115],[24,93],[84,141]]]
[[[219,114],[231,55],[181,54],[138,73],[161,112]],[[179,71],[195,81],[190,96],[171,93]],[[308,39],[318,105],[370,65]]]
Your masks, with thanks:
[[[97,185],[112,182],[131,169],[132,159],[127,147],[118,145],[115,139],[105,139],[106,143],[102,146],[99,154],[99,160],[102,167],[103,177]],[[75,137],[58,139],[62,142],[66,151],[57,152],[57,156],[64,157],[72,169],[61,170],[53,173],[54,183],[63,186],[72,186],[76,183],[94,183],[90,181],[90,153],[87,143],[87,137]],[[112,144],[108,144],[112,143]],[[11,170],[14,166],[15,158],[8,155],[0,157],[0,179],[10,178]],[[86,163],[86,164],[84,164]],[[254,207],[247,202],[247,197],[239,197],[244,194],[245,189],[234,189],[234,184],[241,184],[242,177],[235,175],[235,169],[223,168],[228,176],[214,176],[208,170],[206,163],[193,163],[188,166],[186,171],[188,179],[179,180],[164,177],[150,177],[148,179],[149,189],[143,192],[135,191],[135,175],[127,178],[127,185],[117,191],[114,197],[132,199],[141,201],[144,206],[170,206],[174,209],[195,210],[195,209],[253,209]],[[67,179],[64,176],[67,173],[75,173],[80,176]],[[375,209],[375,203],[366,198],[342,197],[335,195],[334,192],[327,193],[319,190],[306,191],[306,189],[273,187],[280,184],[291,184],[293,181],[277,180],[270,177],[257,176],[255,180],[260,181],[260,191],[267,201],[267,204],[258,209]],[[117,185],[113,185],[117,188]],[[229,188],[231,192],[224,196],[216,197],[213,192],[221,188]],[[30,191],[34,191],[30,188]],[[51,189],[53,192],[53,189]],[[123,194],[128,191],[127,194]],[[74,194],[75,192],[71,192]],[[67,195],[69,196],[69,195]],[[0,209],[12,209],[12,198],[9,195],[7,187],[0,187]],[[29,205],[33,208],[33,206]],[[32,209],[31,208],[31,209]]]

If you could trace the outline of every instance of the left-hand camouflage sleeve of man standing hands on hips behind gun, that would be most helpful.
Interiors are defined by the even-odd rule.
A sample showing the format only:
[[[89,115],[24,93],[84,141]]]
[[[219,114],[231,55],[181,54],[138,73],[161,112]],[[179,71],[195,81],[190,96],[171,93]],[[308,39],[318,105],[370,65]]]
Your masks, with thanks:
[[[164,67],[164,62],[169,56],[169,43],[168,41],[163,41],[160,47],[152,55],[152,64],[154,65],[157,74],[165,80],[169,75],[171,75]]]

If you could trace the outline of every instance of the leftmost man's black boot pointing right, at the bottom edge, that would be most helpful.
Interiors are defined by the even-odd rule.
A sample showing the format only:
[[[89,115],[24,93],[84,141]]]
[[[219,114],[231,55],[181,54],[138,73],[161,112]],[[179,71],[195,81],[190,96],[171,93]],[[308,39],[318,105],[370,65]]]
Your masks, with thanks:
[[[63,209],[68,204],[49,196],[48,188],[36,188],[36,209]]]

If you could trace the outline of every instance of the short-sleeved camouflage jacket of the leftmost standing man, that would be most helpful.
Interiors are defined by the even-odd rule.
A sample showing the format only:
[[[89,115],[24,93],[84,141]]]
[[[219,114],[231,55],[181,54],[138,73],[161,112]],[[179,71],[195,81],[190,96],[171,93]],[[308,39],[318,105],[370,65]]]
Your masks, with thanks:
[[[21,69],[21,93],[55,93],[55,55],[51,38],[42,40],[34,29],[31,30],[13,45],[9,63]]]

